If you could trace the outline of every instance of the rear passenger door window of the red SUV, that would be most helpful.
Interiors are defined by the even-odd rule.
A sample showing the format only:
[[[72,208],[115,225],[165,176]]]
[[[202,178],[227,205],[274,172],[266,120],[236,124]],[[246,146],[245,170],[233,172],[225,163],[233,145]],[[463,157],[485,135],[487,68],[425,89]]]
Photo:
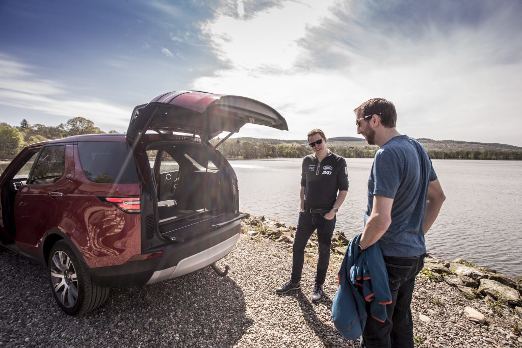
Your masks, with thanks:
[[[46,146],[40,151],[28,184],[52,184],[61,178],[65,167],[65,146]]]

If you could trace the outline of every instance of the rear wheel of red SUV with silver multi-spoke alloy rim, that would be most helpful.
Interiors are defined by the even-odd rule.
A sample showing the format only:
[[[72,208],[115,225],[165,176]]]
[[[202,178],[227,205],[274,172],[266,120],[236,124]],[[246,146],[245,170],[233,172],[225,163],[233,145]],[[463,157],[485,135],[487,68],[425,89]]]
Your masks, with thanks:
[[[64,241],[56,242],[48,260],[51,290],[65,313],[79,316],[99,306],[109,297],[108,287],[96,285],[73,248]]]

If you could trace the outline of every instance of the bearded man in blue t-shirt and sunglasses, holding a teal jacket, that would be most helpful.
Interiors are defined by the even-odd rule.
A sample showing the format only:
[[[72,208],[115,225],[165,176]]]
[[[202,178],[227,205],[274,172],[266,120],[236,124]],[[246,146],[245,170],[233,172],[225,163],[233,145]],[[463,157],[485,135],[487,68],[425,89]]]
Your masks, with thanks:
[[[426,150],[395,129],[397,112],[392,102],[370,99],[354,112],[357,133],[380,147],[368,180],[359,250],[379,244],[392,293],[386,321],[368,317],[361,346],[413,348],[410,304],[415,276],[424,265],[424,235],[445,196]]]

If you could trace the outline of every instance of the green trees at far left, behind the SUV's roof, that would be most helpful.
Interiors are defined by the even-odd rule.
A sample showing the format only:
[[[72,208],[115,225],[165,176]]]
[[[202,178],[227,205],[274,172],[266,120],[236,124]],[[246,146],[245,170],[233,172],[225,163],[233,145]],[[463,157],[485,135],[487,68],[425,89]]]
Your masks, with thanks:
[[[31,125],[27,119],[22,119],[20,125],[15,127],[2,122],[0,123],[0,159],[11,160],[21,149],[34,142],[100,133],[105,132],[84,117],[70,118],[66,123],[58,126],[45,126],[40,123]],[[109,133],[120,132],[111,130]]]

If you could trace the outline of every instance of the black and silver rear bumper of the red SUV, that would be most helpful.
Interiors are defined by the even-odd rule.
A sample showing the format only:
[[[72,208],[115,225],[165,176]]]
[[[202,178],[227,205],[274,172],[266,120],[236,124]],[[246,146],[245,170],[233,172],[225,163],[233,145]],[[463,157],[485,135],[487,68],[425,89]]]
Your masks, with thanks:
[[[240,221],[217,230],[171,244],[161,257],[127,261],[123,265],[89,269],[92,280],[103,287],[153,284],[205,268],[227,256],[241,233]]]

